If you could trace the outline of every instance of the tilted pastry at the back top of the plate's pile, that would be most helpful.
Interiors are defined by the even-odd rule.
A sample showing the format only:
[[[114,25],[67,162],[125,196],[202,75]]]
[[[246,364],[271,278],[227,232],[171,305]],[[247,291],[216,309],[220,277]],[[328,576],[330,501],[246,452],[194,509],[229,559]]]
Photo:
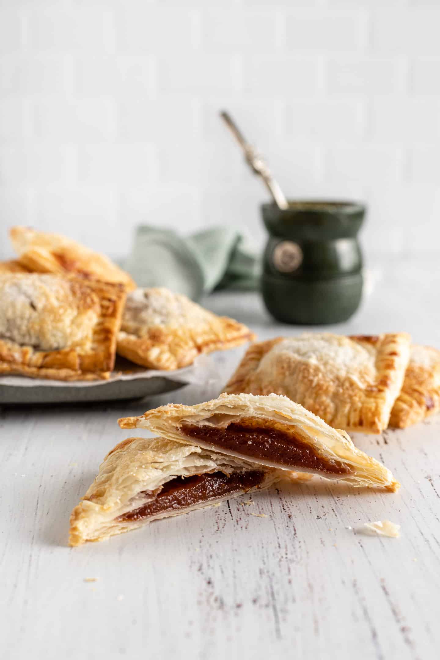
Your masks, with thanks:
[[[106,255],[62,236],[16,226],[9,232],[20,264],[36,273],[74,273],[86,279],[136,287],[128,273]]]

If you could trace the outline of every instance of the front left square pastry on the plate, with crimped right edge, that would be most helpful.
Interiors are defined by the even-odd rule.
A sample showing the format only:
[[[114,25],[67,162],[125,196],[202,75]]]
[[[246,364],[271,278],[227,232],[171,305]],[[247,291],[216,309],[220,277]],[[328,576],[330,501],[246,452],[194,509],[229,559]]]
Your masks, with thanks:
[[[0,374],[108,378],[125,295],[72,275],[0,274]]]

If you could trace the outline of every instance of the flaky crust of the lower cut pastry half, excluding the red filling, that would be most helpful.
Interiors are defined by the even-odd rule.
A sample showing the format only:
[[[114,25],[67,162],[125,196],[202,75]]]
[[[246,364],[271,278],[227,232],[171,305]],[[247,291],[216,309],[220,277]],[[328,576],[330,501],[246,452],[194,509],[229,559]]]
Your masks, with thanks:
[[[142,527],[154,519],[212,506],[216,502],[239,495],[240,492],[235,492],[185,509],[162,512],[148,519],[121,520],[121,515],[135,511],[146,502],[154,500],[164,484],[175,477],[191,477],[216,471],[226,475],[245,473],[255,471],[255,465],[249,461],[204,451],[200,447],[183,445],[165,438],[123,440],[108,453],[100,466],[98,476],[73,510],[69,545],[102,541],[115,534]],[[284,476],[279,470],[262,468],[262,471],[263,482],[241,492],[268,488]]]

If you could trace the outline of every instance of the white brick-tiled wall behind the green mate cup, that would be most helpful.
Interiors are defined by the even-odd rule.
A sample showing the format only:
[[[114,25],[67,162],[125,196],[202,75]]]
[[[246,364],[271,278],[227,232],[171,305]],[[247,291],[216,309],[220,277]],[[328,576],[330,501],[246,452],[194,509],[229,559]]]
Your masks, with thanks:
[[[243,226],[265,189],[227,108],[291,197],[369,204],[363,244],[440,239],[440,0],[1,0],[7,227],[123,255],[139,222]]]

